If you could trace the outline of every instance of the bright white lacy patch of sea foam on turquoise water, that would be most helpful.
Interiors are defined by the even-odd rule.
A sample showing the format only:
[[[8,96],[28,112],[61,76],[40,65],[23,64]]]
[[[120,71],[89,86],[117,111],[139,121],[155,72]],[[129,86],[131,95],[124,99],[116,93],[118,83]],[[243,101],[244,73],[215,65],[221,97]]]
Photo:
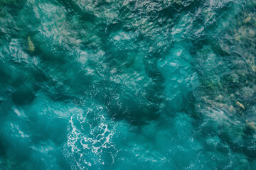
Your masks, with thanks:
[[[65,155],[76,164],[73,169],[87,169],[90,166],[97,169],[106,164],[102,159],[103,154],[108,154],[112,159],[113,155],[117,154],[112,142],[114,128],[110,127],[113,123],[111,124],[104,114],[104,108],[99,106],[95,110],[88,108],[87,111],[71,116]]]

